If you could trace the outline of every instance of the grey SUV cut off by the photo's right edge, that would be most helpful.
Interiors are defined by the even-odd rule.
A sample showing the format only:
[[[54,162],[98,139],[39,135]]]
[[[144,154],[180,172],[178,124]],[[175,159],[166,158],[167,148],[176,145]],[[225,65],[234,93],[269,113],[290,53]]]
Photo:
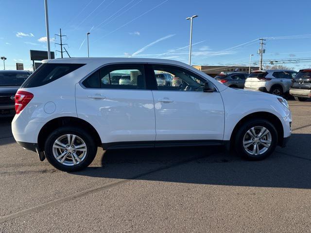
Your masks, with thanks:
[[[290,94],[298,101],[311,99],[311,69],[299,70],[292,79]]]

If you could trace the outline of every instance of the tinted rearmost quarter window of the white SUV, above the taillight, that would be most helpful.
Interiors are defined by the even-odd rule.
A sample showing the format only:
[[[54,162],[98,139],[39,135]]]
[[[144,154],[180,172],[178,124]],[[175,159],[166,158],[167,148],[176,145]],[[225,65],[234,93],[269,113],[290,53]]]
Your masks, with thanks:
[[[84,65],[85,64],[42,64],[31,76],[29,76],[21,88],[43,86],[71,73],[80,67],[83,67]]]

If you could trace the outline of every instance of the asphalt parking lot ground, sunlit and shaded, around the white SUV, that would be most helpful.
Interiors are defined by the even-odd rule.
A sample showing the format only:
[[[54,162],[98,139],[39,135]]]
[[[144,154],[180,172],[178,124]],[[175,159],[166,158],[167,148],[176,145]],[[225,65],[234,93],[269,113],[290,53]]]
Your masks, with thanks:
[[[311,232],[311,101],[289,101],[287,148],[248,162],[223,148],[98,150],[66,173],[0,119],[0,232]]]

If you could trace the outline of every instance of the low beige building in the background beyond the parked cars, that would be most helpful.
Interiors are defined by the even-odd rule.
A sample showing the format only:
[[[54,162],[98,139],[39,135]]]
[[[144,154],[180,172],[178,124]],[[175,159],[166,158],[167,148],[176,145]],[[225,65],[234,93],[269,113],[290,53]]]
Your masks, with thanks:
[[[208,74],[211,77],[215,77],[221,72],[245,72],[248,73],[249,67],[226,67],[226,66],[192,66],[202,72]],[[251,67],[252,70],[259,70],[259,67]]]

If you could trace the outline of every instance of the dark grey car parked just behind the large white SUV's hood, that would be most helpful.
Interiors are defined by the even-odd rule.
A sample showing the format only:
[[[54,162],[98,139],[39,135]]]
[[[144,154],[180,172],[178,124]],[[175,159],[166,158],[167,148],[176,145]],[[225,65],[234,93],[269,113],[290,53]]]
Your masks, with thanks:
[[[232,88],[244,88],[245,79],[248,73],[242,72],[231,72],[231,73],[221,73],[218,74],[215,79]]]

